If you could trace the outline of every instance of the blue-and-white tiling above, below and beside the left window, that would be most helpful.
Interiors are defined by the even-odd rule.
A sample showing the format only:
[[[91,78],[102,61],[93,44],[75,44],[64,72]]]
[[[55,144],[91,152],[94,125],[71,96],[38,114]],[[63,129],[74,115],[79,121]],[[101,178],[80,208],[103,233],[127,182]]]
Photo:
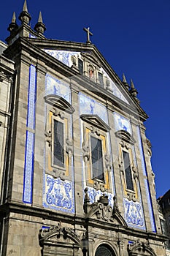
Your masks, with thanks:
[[[58,80],[51,75],[46,75],[45,95],[55,94],[66,99],[67,102],[72,104],[71,91],[69,84],[63,80]],[[45,104],[45,113],[47,114],[47,105]],[[45,123],[46,123],[45,118]],[[72,116],[70,115],[69,135],[72,137]],[[45,153],[46,155],[46,153]],[[72,181],[61,180],[61,178],[54,178],[45,173],[46,166],[44,162],[44,188],[43,188],[43,206],[51,208],[56,211],[63,211],[69,214],[74,214],[74,166],[73,157],[72,164],[69,166],[69,172],[72,173]]]

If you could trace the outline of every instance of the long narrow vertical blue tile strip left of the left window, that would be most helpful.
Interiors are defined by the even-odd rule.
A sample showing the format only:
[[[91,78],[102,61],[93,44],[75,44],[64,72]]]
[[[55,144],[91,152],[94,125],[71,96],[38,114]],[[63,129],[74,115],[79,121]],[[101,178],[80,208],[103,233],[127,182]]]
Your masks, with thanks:
[[[32,203],[32,180],[34,174],[34,140],[35,140],[35,103],[36,102],[36,67],[33,65],[29,69],[28,84],[28,111],[26,131],[26,153],[23,180],[23,202]]]

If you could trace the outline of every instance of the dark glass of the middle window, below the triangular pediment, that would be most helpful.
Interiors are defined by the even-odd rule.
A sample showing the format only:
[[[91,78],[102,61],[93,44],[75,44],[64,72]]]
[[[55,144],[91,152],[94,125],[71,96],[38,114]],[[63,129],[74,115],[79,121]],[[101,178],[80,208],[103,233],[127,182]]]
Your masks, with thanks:
[[[91,161],[93,178],[104,180],[104,167],[102,158],[101,140],[91,136]]]

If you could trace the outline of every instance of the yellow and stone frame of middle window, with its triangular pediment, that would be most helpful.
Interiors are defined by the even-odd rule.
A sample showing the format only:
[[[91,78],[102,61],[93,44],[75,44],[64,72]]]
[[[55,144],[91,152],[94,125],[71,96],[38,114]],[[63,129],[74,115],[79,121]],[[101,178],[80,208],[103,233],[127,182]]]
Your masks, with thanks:
[[[112,182],[111,181],[111,161],[107,159],[109,157],[109,139],[108,133],[110,131],[109,126],[95,114],[82,114],[80,116],[82,119],[82,158],[83,166],[85,168],[85,180],[87,185],[90,187],[95,187],[95,189],[101,189],[102,192],[112,191]],[[102,147],[102,162],[104,167],[104,180],[93,179],[92,172],[92,162],[90,154],[90,135],[93,137],[99,138],[101,140]]]

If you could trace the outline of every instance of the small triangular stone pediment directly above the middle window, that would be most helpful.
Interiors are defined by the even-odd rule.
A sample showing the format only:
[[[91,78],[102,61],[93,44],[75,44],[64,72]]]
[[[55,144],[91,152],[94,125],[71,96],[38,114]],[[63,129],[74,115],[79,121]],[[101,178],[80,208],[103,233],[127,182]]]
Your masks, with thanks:
[[[88,124],[91,124],[93,127],[102,129],[105,132],[109,132],[109,126],[101,119],[98,115],[81,115],[83,121],[86,121]]]

